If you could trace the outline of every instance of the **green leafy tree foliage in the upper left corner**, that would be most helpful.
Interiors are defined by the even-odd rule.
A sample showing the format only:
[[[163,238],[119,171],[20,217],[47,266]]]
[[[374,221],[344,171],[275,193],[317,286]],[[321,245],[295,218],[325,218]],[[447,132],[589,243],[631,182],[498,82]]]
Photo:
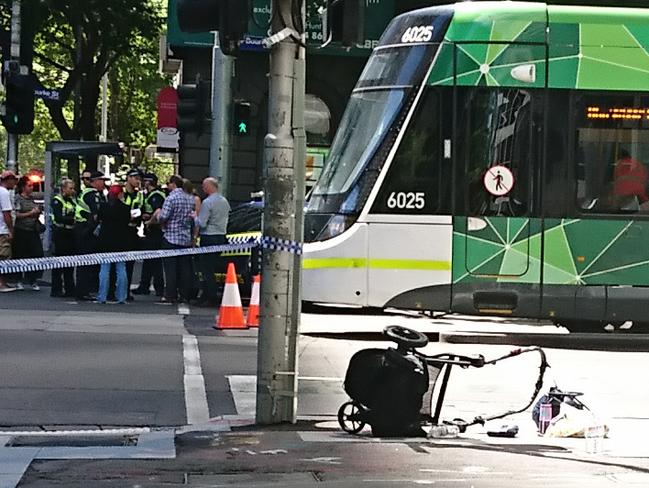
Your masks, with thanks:
[[[4,29],[10,4],[0,4]],[[166,0],[22,0],[22,12],[23,25],[34,29],[38,83],[61,93],[58,101],[36,101],[34,132],[20,138],[24,168],[41,165],[48,140],[98,139],[106,72],[109,139],[140,147],[155,141],[155,97],[169,82],[158,73]]]

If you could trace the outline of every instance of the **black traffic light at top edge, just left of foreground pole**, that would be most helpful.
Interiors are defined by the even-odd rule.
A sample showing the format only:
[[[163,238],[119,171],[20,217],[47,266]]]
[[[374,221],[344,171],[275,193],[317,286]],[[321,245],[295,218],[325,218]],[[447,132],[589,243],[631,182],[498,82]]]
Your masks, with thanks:
[[[231,54],[248,31],[252,0],[178,0],[183,32],[219,32],[221,51]]]

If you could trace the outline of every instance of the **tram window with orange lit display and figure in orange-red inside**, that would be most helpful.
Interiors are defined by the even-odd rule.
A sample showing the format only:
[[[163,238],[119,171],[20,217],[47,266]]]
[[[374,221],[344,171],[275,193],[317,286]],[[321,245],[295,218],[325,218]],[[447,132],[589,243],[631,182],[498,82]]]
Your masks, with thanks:
[[[649,96],[584,96],[575,117],[577,208],[649,214]]]

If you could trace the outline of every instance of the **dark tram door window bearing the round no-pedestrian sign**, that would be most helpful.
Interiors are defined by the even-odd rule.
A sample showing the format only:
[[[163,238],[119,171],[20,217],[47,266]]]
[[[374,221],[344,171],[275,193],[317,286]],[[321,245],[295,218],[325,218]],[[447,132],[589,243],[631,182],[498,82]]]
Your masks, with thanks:
[[[527,215],[534,142],[532,93],[515,88],[463,92],[460,161],[464,162],[466,210],[469,215]],[[503,183],[511,188],[499,196],[490,193],[485,183],[485,173],[496,166],[504,166],[513,176],[510,183]],[[492,191],[500,193],[502,188],[497,187],[501,182],[495,184]]]

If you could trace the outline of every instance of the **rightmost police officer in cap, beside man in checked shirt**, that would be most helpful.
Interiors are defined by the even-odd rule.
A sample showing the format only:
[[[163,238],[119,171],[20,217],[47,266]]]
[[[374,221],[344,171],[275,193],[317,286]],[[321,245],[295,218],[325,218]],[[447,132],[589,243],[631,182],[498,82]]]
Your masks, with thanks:
[[[156,210],[161,209],[166,195],[158,187],[158,177],[153,173],[146,173],[142,178],[146,196],[142,220],[144,222],[144,249],[162,249],[162,229],[160,224],[152,219]],[[133,291],[135,295],[148,295],[151,279],[156,295],[164,294],[164,274],[162,272],[162,259],[146,259],[142,264],[140,285]]]

